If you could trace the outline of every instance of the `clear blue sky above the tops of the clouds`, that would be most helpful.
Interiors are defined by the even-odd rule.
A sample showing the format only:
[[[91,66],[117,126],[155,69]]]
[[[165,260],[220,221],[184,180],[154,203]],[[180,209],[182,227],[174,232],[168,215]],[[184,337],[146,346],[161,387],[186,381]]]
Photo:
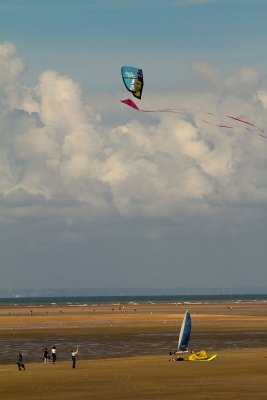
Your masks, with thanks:
[[[0,34],[16,44],[31,83],[53,68],[112,92],[115,71],[125,63],[142,65],[153,87],[168,88],[188,79],[199,60],[225,71],[240,65],[266,70],[265,1],[143,3],[2,0]],[[173,78],[158,79],[167,73]]]

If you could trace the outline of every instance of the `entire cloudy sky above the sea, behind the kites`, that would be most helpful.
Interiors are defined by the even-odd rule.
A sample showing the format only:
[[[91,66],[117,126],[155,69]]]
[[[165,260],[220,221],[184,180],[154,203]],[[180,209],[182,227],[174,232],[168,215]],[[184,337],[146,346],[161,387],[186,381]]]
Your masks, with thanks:
[[[265,0],[0,0],[0,295],[267,287],[266,20]],[[127,108],[122,65],[140,108],[190,112]]]

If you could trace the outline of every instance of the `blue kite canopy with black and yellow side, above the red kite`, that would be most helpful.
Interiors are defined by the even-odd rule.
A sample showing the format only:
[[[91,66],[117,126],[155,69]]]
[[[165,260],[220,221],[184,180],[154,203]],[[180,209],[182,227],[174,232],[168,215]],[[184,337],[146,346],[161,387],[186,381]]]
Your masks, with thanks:
[[[143,71],[135,67],[121,67],[123,83],[134,97],[141,99],[144,86]]]

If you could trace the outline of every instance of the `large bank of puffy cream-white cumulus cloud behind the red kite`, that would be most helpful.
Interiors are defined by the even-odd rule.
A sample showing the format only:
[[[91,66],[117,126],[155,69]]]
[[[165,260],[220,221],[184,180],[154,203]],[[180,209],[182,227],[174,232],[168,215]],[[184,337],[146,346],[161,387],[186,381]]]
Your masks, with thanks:
[[[2,44],[0,198],[9,218],[176,217],[266,205],[267,140],[238,123],[228,131],[207,125],[194,112],[210,110],[218,119],[231,112],[264,126],[267,92],[258,71],[224,76],[194,64],[209,82],[206,92],[166,93],[160,100],[190,108],[191,117],[159,114],[144,124],[129,112],[127,123],[107,125],[73,79],[44,71],[26,88],[24,68],[14,45]],[[147,98],[153,106],[155,96]]]

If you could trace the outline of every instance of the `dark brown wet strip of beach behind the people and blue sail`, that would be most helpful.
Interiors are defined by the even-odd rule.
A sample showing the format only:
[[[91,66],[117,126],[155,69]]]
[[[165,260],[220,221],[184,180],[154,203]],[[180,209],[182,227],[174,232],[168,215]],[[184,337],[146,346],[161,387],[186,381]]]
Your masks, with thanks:
[[[69,360],[73,345],[80,346],[79,359],[129,357],[137,355],[168,354],[177,346],[173,333],[142,334],[49,334],[43,332],[38,338],[19,336],[0,338],[2,349],[0,364],[14,363],[17,351],[21,350],[27,362],[41,362],[43,347],[56,345],[58,360]],[[237,348],[267,347],[267,335],[263,332],[194,334],[192,349],[224,350]]]

